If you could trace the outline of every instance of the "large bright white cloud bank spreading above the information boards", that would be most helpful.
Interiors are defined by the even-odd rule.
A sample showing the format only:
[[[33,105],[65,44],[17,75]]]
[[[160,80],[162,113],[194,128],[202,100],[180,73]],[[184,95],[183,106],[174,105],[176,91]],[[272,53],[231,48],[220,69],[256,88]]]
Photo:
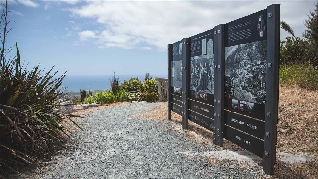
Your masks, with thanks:
[[[100,24],[101,29],[87,29],[95,31],[94,39],[99,48],[147,46],[166,50],[167,44],[266,9],[273,3],[281,3],[281,20],[287,21],[295,34],[301,36],[305,30],[303,20],[313,9],[313,2],[87,1],[85,5],[67,10],[73,17]],[[298,8],[297,13],[291,10],[295,7]],[[286,35],[281,31],[281,37]]]

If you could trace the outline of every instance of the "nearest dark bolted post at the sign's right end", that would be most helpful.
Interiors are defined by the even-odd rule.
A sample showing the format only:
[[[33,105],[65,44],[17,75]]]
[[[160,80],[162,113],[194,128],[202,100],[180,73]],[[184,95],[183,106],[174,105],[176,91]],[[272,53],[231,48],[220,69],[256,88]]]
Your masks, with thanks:
[[[263,170],[266,174],[273,175],[278,121],[280,4],[267,6],[266,16],[267,75]]]

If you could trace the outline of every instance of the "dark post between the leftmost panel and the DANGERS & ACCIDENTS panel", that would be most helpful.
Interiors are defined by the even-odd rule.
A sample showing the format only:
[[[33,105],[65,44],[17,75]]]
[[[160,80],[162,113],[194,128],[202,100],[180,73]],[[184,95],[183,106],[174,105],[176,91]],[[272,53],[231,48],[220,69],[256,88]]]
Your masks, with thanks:
[[[182,128],[188,129],[189,38],[182,39]]]

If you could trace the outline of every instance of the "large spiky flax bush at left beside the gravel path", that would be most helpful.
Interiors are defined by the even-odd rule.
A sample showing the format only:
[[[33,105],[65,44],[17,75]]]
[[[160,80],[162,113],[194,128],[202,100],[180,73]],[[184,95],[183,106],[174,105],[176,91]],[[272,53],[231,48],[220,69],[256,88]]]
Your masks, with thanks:
[[[65,74],[59,78],[52,69],[43,73],[39,66],[28,71],[17,58],[0,59],[0,173],[21,163],[40,166],[38,159],[49,156],[54,145],[61,146],[62,134],[72,132],[65,125],[71,117],[58,107],[66,97],[61,87]],[[77,124],[76,124],[77,125]],[[77,125],[78,126],[78,125]],[[78,126],[79,127],[79,126]],[[14,170],[14,169],[13,169]]]

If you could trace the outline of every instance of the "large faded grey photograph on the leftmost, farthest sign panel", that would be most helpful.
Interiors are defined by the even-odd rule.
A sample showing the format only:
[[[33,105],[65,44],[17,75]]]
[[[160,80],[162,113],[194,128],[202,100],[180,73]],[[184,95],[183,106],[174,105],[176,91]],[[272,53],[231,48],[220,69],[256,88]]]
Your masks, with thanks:
[[[171,86],[182,88],[182,60],[171,62]]]

